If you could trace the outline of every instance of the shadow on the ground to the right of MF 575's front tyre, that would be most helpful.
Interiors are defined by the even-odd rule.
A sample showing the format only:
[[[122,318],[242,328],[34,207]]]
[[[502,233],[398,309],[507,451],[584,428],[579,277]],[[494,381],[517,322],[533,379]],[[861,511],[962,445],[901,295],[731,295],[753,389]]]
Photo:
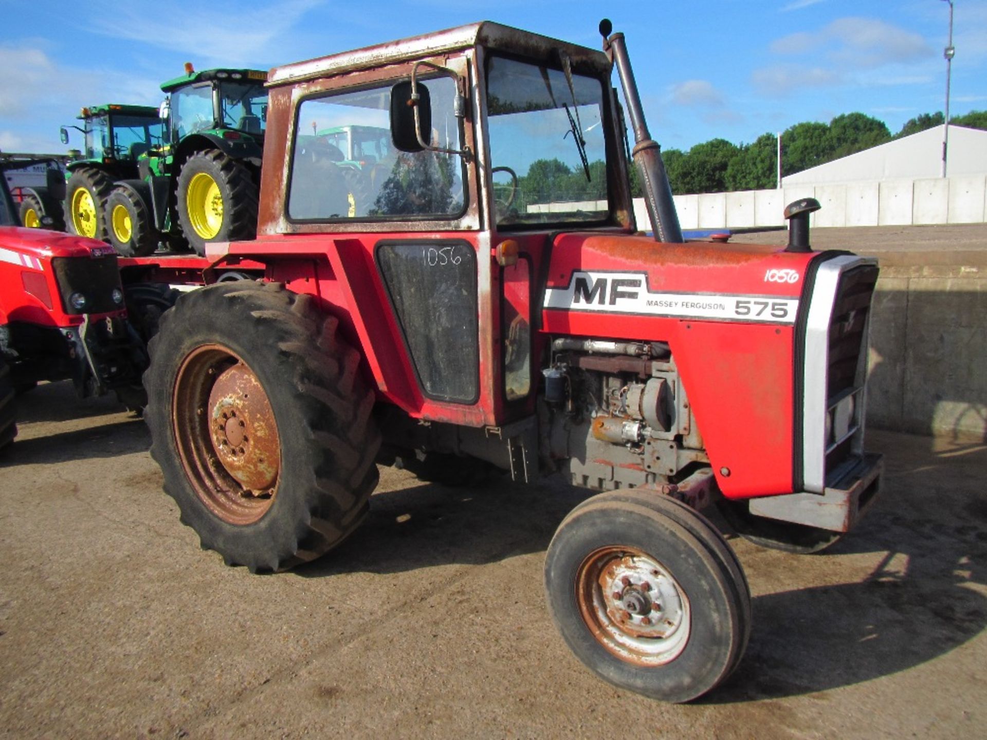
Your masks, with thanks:
[[[874,438],[880,449],[881,435]],[[701,703],[852,686],[945,655],[987,628],[987,495],[978,484],[987,450],[930,453],[928,438],[884,437],[892,439],[904,444],[884,446],[882,500],[850,537],[824,555],[772,553],[760,565],[797,569],[802,557],[873,555],[873,572],[756,597],[744,660]]]

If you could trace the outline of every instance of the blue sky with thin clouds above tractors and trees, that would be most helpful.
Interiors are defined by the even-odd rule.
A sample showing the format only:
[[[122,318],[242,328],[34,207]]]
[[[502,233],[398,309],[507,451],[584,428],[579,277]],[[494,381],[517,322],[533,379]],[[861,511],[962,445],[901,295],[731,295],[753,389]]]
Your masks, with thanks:
[[[82,106],[156,106],[186,61],[266,69],[484,19],[598,48],[604,15],[665,148],[850,111],[894,133],[943,110],[949,24],[944,0],[0,0],[0,14],[0,150],[49,153]],[[955,0],[953,45],[950,112],[987,109],[987,0]]]

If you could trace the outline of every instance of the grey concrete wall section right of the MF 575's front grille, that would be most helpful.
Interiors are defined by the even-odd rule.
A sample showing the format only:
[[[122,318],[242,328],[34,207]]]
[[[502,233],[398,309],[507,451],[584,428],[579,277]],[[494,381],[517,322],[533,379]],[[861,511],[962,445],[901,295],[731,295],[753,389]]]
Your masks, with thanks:
[[[947,257],[881,255],[868,423],[987,442],[987,253]]]

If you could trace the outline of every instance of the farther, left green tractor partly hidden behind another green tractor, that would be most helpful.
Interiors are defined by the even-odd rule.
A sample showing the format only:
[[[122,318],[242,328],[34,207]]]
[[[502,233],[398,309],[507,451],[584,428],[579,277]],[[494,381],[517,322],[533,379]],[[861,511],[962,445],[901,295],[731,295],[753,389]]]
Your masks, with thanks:
[[[109,241],[107,205],[114,183],[137,177],[137,158],[161,145],[158,109],[147,106],[105,105],[84,108],[82,126],[62,126],[61,142],[68,144],[68,129],[83,135],[81,156],[66,165],[65,222],[82,237]]]

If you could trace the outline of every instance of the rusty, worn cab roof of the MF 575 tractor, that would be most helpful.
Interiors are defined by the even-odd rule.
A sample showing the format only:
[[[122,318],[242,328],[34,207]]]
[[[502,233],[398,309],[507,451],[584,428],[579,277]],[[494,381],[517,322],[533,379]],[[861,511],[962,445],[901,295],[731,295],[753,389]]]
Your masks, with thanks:
[[[602,51],[539,36],[491,21],[482,21],[469,26],[387,41],[353,51],[343,51],[274,67],[267,77],[267,87],[291,85],[342,72],[376,68],[384,64],[458,51],[477,45],[520,54],[533,60],[544,60],[553,65],[559,63],[558,51],[565,51],[575,70],[590,74],[605,74],[610,70],[610,60]]]

